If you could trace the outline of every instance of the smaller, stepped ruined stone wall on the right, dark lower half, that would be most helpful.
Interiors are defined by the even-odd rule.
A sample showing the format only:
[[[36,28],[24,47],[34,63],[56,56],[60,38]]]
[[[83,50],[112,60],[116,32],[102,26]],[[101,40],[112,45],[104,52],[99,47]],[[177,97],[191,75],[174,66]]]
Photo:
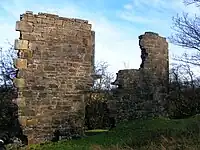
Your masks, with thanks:
[[[113,82],[117,120],[145,119],[166,114],[168,93],[168,43],[157,33],[139,36],[139,69],[120,70]]]

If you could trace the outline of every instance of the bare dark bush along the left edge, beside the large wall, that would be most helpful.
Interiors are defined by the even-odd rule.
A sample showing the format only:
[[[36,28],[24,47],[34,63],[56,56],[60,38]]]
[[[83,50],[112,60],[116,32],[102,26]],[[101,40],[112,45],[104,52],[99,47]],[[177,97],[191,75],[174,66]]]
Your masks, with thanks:
[[[18,120],[18,105],[13,102],[18,94],[12,79],[16,76],[14,58],[17,58],[13,45],[9,49],[0,48],[0,149],[12,143],[14,138],[28,144]]]

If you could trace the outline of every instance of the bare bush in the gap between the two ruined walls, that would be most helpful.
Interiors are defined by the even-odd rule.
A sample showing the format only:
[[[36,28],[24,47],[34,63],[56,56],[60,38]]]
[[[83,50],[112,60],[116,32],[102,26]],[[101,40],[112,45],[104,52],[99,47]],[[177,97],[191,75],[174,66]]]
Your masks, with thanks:
[[[95,65],[94,86],[85,99],[85,126],[88,129],[109,126],[106,101],[112,100],[111,81],[114,75],[109,72],[108,66],[108,63],[103,61]]]

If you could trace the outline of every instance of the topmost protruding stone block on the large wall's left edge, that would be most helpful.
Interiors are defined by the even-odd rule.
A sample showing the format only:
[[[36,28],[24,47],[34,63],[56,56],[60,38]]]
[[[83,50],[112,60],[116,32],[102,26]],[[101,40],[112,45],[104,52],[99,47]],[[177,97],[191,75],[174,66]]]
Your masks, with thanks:
[[[26,21],[17,21],[15,30],[23,31],[23,32],[32,32],[33,31],[33,23],[26,22]]]

